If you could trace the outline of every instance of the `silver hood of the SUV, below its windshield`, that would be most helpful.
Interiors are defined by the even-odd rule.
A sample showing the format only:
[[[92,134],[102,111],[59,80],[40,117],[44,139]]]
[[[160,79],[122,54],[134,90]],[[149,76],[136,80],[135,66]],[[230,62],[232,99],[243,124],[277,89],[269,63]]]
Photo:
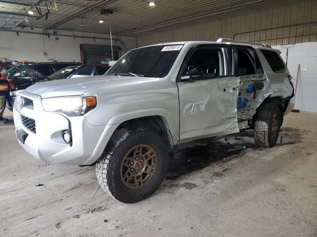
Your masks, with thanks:
[[[83,78],[69,78],[52,81],[37,82],[25,91],[40,95],[42,98],[57,96],[82,95],[86,91],[110,85],[127,85],[138,83],[150,78],[123,77],[123,76],[93,76]],[[153,79],[153,78],[151,78]]]

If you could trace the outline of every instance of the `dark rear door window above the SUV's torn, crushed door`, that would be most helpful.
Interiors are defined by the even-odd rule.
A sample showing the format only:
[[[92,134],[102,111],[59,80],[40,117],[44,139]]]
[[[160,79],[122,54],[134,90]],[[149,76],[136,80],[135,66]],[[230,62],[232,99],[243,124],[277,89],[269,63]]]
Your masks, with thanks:
[[[258,55],[251,47],[238,46],[238,76],[263,74]]]

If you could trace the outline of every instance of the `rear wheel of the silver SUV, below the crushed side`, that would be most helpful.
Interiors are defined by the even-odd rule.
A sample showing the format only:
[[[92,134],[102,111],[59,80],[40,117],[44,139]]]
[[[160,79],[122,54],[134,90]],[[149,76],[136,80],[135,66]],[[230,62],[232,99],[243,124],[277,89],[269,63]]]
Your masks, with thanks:
[[[273,147],[281,126],[278,104],[266,103],[259,108],[254,120],[254,141],[259,147]]]

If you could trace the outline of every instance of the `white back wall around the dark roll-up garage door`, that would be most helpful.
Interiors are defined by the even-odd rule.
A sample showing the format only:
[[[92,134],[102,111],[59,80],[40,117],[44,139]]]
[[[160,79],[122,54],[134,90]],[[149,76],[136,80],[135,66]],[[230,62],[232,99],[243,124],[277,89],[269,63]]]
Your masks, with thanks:
[[[67,32],[58,31],[58,34],[77,35],[88,37],[110,38],[109,35],[93,34],[83,32]],[[58,38],[58,40],[55,40]],[[121,39],[114,41],[113,44],[121,47],[120,55],[128,50],[135,48],[137,40],[135,37],[125,36],[112,36],[112,39]],[[101,44],[110,45],[110,40],[83,39],[73,37],[54,36],[51,37],[26,34],[20,32],[17,36],[15,32],[0,32],[0,57],[9,60],[22,61],[23,59],[29,62],[45,62],[48,58],[53,58],[57,61],[76,61],[79,62],[80,58],[80,44]],[[45,56],[44,52],[48,55]]]

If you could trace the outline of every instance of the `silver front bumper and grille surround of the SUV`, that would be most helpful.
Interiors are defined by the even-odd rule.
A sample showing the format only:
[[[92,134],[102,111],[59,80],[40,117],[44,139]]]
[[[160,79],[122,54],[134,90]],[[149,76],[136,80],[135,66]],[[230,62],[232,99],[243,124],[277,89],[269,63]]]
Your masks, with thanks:
[[[59,113],[46,112],[43,110],[40,96],[27,92],[21,92],[21,96],[31,99],[34,108],[20,108],[19,103],[14,103],[15,130],[23,129],[28,133],[24,144],[19,140],[18,142],[28,153],[45,163],[91,164],[102,155],[116,128],[113,125],[91,125],[85,116],[66,117]],[[23,124],[21,116],[35,120],[36,133]],[[62,139],[65,130],[71,130],[71,145]]]

